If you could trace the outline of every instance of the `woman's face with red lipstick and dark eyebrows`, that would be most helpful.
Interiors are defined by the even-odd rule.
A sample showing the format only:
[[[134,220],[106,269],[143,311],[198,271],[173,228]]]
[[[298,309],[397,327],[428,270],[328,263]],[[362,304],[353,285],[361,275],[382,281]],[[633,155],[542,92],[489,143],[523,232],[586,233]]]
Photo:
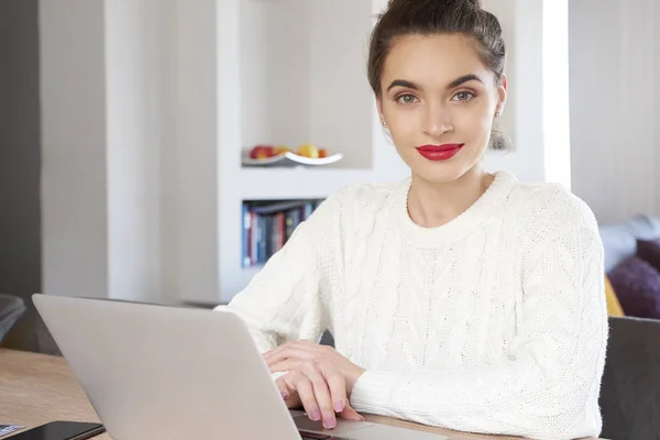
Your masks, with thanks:
[[[397,40],[381,87],[378,112],[398,154],[431,183],[457,180],[480,163],[506,100],[506,79],[498,86],[462,35]]]

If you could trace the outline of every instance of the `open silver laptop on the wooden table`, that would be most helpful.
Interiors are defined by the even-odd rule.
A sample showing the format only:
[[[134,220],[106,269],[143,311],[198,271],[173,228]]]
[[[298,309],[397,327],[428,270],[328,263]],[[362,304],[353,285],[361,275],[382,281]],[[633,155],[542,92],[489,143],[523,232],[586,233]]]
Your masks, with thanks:
[[[442,440],[289,411],[248,328],[193,308],[34,295],[34,304],[113,440]]]

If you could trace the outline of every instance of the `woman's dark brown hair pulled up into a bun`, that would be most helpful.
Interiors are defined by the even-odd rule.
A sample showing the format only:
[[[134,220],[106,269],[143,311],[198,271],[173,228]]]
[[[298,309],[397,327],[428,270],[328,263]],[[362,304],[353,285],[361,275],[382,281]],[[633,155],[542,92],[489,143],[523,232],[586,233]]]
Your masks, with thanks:
[[[407,35],[462,34],[477,43],[479,56],[502,80],[506,64],[506,46],[499,21],[482,9],[480,0],[389,0],[372,31],[367,77],[380,97],[381,77],[393,43]],[[508,140],[493,130],[491,147],[504,150]]]

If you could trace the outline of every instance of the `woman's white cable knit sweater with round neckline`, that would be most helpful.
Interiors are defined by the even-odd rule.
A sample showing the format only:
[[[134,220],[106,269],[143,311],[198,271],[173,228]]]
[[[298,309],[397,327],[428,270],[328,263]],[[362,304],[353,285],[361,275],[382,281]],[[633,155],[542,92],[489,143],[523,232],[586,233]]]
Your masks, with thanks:
[[[359,411],[597,437],[607,312],[591,210],[559,186],[499,172],[457,219],[421,228],[409,185],[329,197],[227,309],[262,352],[329,329],[366,369],[350,397]]]

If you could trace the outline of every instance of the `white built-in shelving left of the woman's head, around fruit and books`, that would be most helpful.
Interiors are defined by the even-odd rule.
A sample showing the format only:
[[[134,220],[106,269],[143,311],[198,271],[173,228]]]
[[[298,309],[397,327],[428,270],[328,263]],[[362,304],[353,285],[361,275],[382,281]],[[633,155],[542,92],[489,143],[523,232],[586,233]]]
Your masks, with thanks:
[[[386,0],[218,2],[219,298],[261,268],[242,265],[245,200],[324,199],[356,182],[406,176],[366,80],[369,35]],[[255,144],[311,143],[331,167],[242,167]]]

